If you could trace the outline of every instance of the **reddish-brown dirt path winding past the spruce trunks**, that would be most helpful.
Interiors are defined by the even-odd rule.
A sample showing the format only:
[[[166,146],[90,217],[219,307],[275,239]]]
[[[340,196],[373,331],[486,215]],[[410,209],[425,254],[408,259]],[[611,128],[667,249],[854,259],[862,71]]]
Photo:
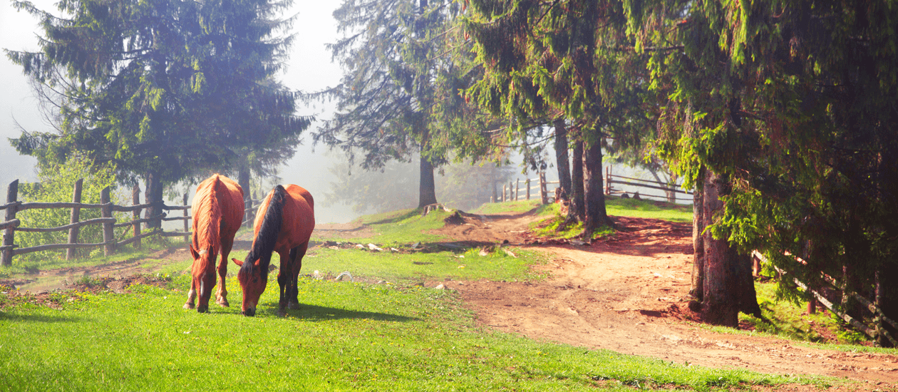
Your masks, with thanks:
[[[524,244],[550,257],[542,282],[446,282],[483,326],[538,340],[712,368],[814,374],[863,381],[831,390],[896,390],[898,357],[846,353],[758,335],[711,332],[687,308],[691,225],[616,217],[625,228],[586,246],[526,245],[532,214],[465,216],[438,231],[462,241]],[[563,241],[562,241],[563,242]],[[788,386],[778,390],[819,390]]]

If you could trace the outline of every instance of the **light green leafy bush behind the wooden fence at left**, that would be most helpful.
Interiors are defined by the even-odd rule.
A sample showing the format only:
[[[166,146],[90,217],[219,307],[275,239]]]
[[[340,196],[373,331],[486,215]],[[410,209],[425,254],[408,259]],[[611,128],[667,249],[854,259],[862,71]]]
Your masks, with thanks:
[[[115,189],[114,167],[110,164],[93,164],[92,161],[75,155],[65,164],[39,166],[38,182],[19,185],[19,200],[25,203],[61,203],[71,202],[75,189],[75,181],[84,179],[81,191],[81,202],[99,204],[100,192],[104,187]],[[121,205],[122,197],[115,192],[110,193],[111,202]],[[100,218],[99,208],[83,208],[80,220]],[[21,227],[52,228],[68,224],[71,220],[69,208],[37,208],[16,213],[22,221]],[[128,219],[124,214],[119,220]],[[68,241],[68,231],[23,232],[15,233],[15,242],[20,248],[35,247],[45,244],[63,244]],[[80,243],[99,243],[103,241],[102,226],[92,224],[83,226],[78,233]],[[81,249],[84,251],[84,249]],[[100,252],[101,248],[92,252]],[[16,256],[20,261],[39,261],[58,257],[61,251],[48,250]]]

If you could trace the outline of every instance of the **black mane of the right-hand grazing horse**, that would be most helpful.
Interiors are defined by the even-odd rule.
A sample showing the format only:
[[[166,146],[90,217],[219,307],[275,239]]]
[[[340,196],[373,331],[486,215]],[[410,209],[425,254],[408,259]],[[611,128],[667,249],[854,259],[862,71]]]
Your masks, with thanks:
[[[263,280],[269,278],[269,264],[271,263],[271,252],[277,244],[277,236],[280,234],[281,223],[283,222],[284,198],[286,197],[286,189],[278,185],[271,191],[269,198],[269,207],[265,210],[265,217],[262,218],[259,234],[256,240],[252,241],[252,249],[243,260],[241,272],[245,276],[251,276],[255,266],[254,261],[259,260],[261,269],[260,275]]]

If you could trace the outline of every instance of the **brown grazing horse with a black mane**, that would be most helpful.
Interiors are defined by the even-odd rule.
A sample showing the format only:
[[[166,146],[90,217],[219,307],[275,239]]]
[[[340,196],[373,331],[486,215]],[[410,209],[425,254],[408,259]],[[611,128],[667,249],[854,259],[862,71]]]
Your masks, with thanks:
[[[278,185],[262,200],[253,224],[252,250],[243,261],[233,259],[234,264],[240,266],[237,280],[243,289],[244,316],[256,314],[259,297],[269,282],[272,252],[277,252],[281,262],[277,274],[280,310],[299,309],[296,277],[303,267],[303,257],[314,228],[314,201],[303,187]]]

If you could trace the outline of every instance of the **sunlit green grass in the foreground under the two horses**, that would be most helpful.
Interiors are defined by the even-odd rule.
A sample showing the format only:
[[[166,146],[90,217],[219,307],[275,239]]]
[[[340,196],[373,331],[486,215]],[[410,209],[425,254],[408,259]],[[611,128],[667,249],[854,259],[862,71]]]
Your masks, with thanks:
[[[255,318],[198,314],[180,292],[59,296],[63,309],[0,312],[2,390],[707,389],[789,379],[533,342],[476,327],[451,292],[313,281],[277,317],[269,282]],[[230,279],[233,303],[239,285]],[[794,379],[792,379],[794,381]]]

